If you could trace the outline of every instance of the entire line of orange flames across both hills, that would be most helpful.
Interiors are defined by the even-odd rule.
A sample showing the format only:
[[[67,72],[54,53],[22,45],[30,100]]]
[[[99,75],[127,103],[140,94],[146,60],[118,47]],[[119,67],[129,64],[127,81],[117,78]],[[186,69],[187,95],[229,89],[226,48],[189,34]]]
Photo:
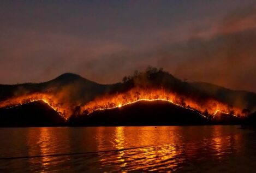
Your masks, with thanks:
[[[14,106],[20,106],[31,102],[36,102],[38,100],[42,100],[51,106],[53,110],[57,111],[58,114],[66,120],[70,117],[70,115],[73,114],[74,107],[76,105],[81,105],[81,103],[76,103],[75,105],[68,102],[63,103],[62,98],[58,98],[58,96],[53,93],[33,93],[4,100],[0,102],[0,108],[4,107],[10,109]],[[90,115],[93,111],[121,108],[122,106],[134,104],[142,100],[148,102],[162,100],[180,106],[184,109],[197,111],[201,116],[204,117],[209,117],[209,115],[215,117],[219,112],[236,117],[238,115],[244,115],[241,109],[230,108],[229,105],[218,102],[215,99],[207,99],[203,101],[195,100],[191,97],[181,96],[177,93],[166,91],[163,88],[150,89],[139,87],[132,88],[131,90],[123,93],[106,94],[105,96],[97,97],[91,102],[82,105],[81,111],[87,112],[87,114]]]

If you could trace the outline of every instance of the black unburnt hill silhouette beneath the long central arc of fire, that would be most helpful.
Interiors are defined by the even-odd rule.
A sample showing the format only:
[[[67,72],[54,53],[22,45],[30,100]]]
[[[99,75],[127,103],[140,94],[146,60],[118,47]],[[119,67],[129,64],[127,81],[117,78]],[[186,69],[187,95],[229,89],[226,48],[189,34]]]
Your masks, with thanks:
[[[211,121],[197,111],[165,101],[139,101],[121,108],[97,110],[90,115],[72,116],[70,126],[164,126],[199,125]]]

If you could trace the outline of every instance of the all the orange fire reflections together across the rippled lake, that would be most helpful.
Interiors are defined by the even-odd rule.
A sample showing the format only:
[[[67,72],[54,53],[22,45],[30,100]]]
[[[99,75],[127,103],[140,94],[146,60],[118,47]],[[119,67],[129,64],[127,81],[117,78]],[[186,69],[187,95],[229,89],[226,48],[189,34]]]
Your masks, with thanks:
[[[66,135],[59,138],[66,130],[71,132],[70,139],[86,138],[76,142],[67,140]],[[81,130],[83,133],[78,133]],[[29,156],[70,153],[70,148],[64,147],[68,145],[75,152],[100,151],[77,156],[31,158],[29,164],[37,165],[41,172],[63,166],[72,170],[78,164],[89,172],[186,170],[190,163],[205,162],[205,157],[206,162],[216,163],[242,151],[239,130],[234,126],[87,127],[61,128],[59,131],[58,128],[29,128]]]

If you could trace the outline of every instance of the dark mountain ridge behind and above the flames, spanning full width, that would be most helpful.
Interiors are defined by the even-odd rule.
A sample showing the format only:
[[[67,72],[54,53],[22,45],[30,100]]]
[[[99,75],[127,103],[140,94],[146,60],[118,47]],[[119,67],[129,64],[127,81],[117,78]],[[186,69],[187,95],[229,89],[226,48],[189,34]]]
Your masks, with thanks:
[[[135,71],[133,76],[124,76],[122,82],[109,85],[99,84],[74,73],[64,73],[55,79],[41,83],[22,83],[19,85],[0,85],[0,103],[8,98],[27,96],[29,94],[51,94],[59,102],[70,105],[85,105],[104,95],[123,93],[134,87],[165,88],[204,102],[215,99],[233,106],[240,106],[246,112],[256,111],[256,94],[246,91],[230,90],[212,83],[187,82],[177,79],[163,69],[148,67],[145,72]]]

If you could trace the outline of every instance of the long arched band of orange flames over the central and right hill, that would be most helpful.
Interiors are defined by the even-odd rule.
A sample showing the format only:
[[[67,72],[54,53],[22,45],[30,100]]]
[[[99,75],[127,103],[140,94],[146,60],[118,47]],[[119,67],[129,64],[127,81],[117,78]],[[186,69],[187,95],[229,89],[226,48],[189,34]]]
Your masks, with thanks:
[[[200,115],[204,117],[207,116],[206,114],[216,116],[218,112],[230,114],[236,117],[237,115],[243,115],[241,109],[230,108],[229,105],[218,102],[214,99],[207,99],[204,100],[204,102],[199,102],[189,97],[178,96],[176,93],[165,91],[163,89],[148,88],[146,90],[145,88],[133,88],[128,92],[98,97],[82,106],[82,110],[86,110],[88,114],[91,114],[93,111],[121,108],[122,106],[133,104],[142,100],[148,102],[162,100],[177,106],[181,106],[185,109],[198,111]]]

